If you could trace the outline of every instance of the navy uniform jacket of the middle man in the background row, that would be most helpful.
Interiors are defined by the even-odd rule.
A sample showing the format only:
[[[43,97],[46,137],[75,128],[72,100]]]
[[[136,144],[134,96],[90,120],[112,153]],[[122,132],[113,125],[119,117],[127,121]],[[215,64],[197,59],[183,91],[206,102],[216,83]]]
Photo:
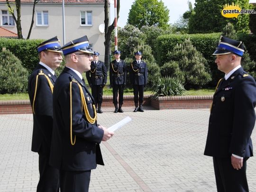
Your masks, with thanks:
[[[126,63],[123,60],[119,61],[119,64],[116,60],[111,61],[110,63],[110,84],[122,85],[126,84]]]

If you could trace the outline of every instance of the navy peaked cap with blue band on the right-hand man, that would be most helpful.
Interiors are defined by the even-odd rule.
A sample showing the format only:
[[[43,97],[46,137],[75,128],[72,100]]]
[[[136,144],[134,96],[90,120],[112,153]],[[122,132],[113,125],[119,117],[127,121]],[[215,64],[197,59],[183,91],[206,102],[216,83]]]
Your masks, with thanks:
[[[229,39],[228,37],[220,36],[219,45],[212,55],[226,55],[229,53],[234,53],[242,57],[244,52],[245,46],[242,42]]]

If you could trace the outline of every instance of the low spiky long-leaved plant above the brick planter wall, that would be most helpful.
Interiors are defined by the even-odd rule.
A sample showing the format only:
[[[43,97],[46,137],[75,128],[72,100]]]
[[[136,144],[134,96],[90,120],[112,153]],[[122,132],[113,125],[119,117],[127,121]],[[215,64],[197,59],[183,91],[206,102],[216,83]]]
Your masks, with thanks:
[[[160,77],[152,87],[153,99],[164,96],[184,95],[186,90],[178,78]]]

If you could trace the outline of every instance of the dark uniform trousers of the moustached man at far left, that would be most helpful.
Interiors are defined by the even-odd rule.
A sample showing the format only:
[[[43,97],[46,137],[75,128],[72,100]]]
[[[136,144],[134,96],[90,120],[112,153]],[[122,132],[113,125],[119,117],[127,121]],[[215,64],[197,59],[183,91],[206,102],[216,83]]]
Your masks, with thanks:
[[[59,192],[59,170],[49,165],[49,154],[39,154],[39,182],[37,192]]]

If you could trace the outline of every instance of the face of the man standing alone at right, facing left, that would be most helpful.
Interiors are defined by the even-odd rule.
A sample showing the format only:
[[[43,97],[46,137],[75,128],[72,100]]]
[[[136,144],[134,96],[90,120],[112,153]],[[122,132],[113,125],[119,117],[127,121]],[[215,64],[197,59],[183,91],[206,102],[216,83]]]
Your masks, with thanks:
[[[233,69],[234,54],[217,55],[215,63],[220,71],[228,74]]]

